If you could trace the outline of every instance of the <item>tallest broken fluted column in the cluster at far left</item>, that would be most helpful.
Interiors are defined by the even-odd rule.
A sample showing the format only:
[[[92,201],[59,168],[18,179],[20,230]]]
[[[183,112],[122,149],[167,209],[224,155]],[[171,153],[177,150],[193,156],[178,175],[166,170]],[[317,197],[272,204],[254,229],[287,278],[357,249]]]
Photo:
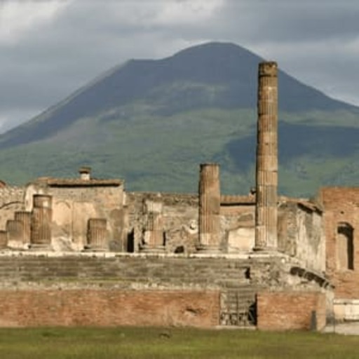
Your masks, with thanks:
[[[47,248],[51,245],[52,213],[52,197],[35,194],[30,236],[32,248]]]

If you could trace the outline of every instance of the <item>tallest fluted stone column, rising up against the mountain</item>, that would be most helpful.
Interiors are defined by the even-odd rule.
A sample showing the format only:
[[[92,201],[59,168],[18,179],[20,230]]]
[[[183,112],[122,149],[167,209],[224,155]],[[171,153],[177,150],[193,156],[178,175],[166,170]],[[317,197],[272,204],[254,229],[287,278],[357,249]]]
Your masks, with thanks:
[[[255,250],[277,249],[278,80],[276,62],[259,64]]]

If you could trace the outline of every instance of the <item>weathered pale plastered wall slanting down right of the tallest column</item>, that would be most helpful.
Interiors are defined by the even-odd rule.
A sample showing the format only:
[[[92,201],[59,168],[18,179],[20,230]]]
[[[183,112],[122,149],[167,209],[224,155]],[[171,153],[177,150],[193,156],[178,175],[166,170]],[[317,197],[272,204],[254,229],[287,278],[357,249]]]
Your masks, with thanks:
[[[313,205],[282,201],[278,210],[278,249],[302,261],[306,268],[324,272],[322,213]]]

